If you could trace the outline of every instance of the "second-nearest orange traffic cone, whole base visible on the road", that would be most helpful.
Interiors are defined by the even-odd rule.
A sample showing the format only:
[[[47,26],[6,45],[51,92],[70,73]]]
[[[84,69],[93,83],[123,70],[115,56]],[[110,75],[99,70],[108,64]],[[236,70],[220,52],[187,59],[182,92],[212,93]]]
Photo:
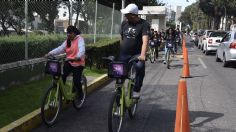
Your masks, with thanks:
[[[184,56],[184,66],[182,71],[182,78],[191,78],[190,71],[189,71],[189,62],[188,62],[188,49],[184,48],[183,50],[183,56]]]

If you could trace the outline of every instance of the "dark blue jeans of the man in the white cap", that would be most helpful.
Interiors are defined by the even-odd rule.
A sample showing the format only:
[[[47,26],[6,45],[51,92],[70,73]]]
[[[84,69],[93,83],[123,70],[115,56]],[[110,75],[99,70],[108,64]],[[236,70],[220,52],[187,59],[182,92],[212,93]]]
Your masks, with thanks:
[[[131,57],[132,55],[121,54],[119,60],[128,63]],[[136,69],[135,85],[133,91],[140,92],[141,87],[143,85],[143,79],[145,76],[145,61],[134,62],[133,65],[135,66]]]

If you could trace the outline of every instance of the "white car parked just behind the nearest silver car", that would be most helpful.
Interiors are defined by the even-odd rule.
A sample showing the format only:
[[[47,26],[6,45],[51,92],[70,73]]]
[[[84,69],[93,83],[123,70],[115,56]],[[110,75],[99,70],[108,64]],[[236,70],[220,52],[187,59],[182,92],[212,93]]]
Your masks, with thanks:
[[[205,43],[203,43],[203,53],[205,53],[205,55],[208,55],[209,52],[216,51],[217,47],[220,44],[219,42],[226,35],[226,33],[227,32],[224,32],[224,31],[211,32],[209,34],[209,37],[206,38]]]

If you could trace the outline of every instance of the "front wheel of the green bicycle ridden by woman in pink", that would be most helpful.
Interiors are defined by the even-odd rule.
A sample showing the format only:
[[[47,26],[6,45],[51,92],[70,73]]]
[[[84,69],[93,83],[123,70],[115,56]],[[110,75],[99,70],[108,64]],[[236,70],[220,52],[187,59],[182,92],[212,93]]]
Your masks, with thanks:
[[[61,106],[61,91],[56,85],[52,85],[44,94],[41,104],[41,117],[46,125],[52,126],[56,122]]]

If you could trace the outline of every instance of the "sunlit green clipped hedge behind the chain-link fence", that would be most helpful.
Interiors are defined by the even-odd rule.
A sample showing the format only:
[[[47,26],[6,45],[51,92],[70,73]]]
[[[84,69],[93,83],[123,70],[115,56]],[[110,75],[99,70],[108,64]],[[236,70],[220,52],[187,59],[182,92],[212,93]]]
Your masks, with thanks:
[[[84,35],[86,46],[102,45],[110,43],[108,39],[102,41],[104,37],[97,38],[98,42],[93,43],[92,35]],[[0,64],[24,60],[25,57],[25,37],[10,36],[0,37]],[[28,37],[28,58],[42,57],[48,51],[59,46],[65,40],[65,35],[29,35]],[[117,39],[116,39],[117,41]],[[111,41],[112,42],[112,41]],[[90,47],[90,46],[89,46]],[[94,48],[92,48],[94,49]]]

